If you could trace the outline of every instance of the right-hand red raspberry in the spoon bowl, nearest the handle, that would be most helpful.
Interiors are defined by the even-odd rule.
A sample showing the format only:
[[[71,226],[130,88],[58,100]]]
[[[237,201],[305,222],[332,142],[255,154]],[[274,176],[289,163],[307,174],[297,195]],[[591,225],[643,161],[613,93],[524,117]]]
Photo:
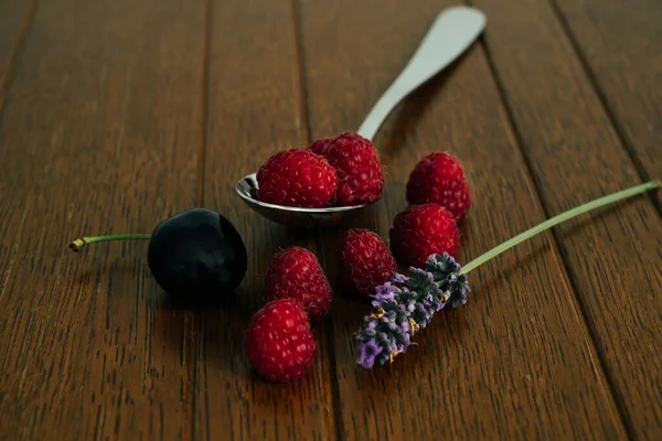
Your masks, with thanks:
[[[320,139],[308,147],[324,157],[338,173],[340,206],[369,204],[384,193],[384,170],[374,146],[355,133]]]

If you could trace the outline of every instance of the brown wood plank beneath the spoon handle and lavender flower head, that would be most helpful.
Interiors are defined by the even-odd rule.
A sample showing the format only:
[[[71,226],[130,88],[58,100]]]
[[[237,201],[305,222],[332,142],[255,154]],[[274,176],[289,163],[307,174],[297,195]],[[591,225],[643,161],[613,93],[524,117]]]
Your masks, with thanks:
[[[313,137],[355,130],[451,3],[337,1],[320,13],[317,4],[300,2]],[[388,168],[385,197],[353,225],[387,237],[405,206],[409,171],[434,150],[460,158],[474,195],[461,223],[461,261],[544,218],[480,47],[403,105],[375,141]],[[373,372],[356,366],[352,336],[369,308],[339,297],[333,326],[341,438],[623,438],[551,235],[481,267],[470,282],[473,295],[465,308],[439,314],[417,336],[417,347]]]

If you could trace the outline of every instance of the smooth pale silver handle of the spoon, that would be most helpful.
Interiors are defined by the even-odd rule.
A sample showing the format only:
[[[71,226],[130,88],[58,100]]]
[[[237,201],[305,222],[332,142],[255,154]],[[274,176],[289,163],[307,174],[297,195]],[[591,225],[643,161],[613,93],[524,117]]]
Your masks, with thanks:
[[[373,106],[357,133],[372,140],[399,101],[462,54],[480,35],[485,22],[485,15],[474,8],[452,7],[439,13],[414,56]]]

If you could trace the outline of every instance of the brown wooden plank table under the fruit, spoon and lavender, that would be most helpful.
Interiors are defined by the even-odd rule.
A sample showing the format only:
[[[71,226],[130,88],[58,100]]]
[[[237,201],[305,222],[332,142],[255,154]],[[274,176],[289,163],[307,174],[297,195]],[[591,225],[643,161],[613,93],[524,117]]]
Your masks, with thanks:
[[[308,375],[259,379],[242,336],[273,254],[335,284],[350,225],[387,238],[426,153],[460,158],[460,261],[662,176],[662,2],[474,0],[484,37],[375,139],[384,198],[309,233],[233,183],[286,147],[355,130],[446,0],[0,2],[3,440],[662,438],[661,192],[581,216],[471,273],[467,305],[388,366],[356,366],[364,303],[335,290]],[[236,310],[171,308],[147,244],[193,206],[249,250]]]

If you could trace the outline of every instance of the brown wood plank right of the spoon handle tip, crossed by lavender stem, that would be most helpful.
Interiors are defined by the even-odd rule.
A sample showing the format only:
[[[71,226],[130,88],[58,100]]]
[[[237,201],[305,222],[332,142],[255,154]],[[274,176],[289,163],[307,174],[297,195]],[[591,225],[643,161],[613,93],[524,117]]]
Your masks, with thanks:
[[[476,4],[490,17],[489,51],[549,215],[640,182],[548,2]],[[660,216],[642,196],[556,237],[630,434],[661,438]]]

